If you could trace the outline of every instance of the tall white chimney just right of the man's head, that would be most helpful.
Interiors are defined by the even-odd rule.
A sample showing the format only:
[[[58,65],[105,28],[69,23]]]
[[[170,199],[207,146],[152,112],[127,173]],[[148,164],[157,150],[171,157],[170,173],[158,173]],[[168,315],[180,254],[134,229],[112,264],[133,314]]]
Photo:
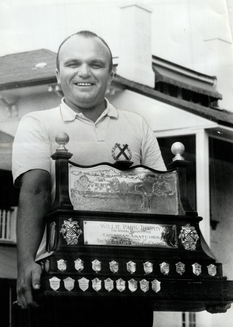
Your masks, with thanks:
[[[151,56],[151,12],[141,4],[120,7],[120,53],[116,73],[155,86]]]

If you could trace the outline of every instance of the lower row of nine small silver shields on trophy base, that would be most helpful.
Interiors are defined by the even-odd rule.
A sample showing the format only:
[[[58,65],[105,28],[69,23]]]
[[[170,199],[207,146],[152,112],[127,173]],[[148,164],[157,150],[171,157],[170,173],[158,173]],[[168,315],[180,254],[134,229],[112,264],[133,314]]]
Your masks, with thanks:
[[[59,289],[60,287],[60,279],[57,278],[57,277],[53,277],[49,280],[49,283],[50,283],[50,287],[56,291]],[[67,277],[66,279],[63,280],[64,282],[64,286],[65,288],[68,290],[68,291],[71,291],[73,288],[74,288],[74,282],[75,280],[70,278],[70,277]],[[85,277],[83,278],[80,278],[78,280],[78,283],[79,283],[79,287],[82,291],[86,291],[89,287],[89,280],[86,279]],[[117,281],[116,281],[116,288],[118,291],[122,292],[125,290],[125,281],[122,279],[122,278],[119,278]],[[146,279],[143,279],[141,280],[140,282],[140,288],[141,290],[145,293],[149,290],[149,282],[146,280]],[[153,280],[151,282],[152,284],[152,290],[154,292],[159,292],[160,291],[160,284],[161,282],[159,282],[157,279]],[[129,290],[131,292],[135,292],[138,288],[138,282],[135,281],[134,279],[131,279],[130,281],[128,281],[128,286],[129,286]],[[100,289],[101,289],[101,280],[99,278],[95,278],[92,280],[92,287],[93,289],[98,292]],[[111,279],[111,278],[107,278],[104,280],[104,287],[107,291],[112,291],[113,288],[114,288],[114,281]]]

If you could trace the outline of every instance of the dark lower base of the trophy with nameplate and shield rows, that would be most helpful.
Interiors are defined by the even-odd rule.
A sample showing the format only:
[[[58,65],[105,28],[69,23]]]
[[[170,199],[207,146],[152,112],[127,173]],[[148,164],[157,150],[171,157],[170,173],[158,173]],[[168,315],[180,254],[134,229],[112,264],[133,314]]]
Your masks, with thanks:
[[[67,244],[61,233],[62,225],[70,222],[71,217],[82,230],[77,245]],[[176,216],[174,220],[174,216],[152,217],[148,214],[134,214],[132,218],[127,213],[116,215],[67,210],[54,212],[49,222],[55,226],[52,234],[58,234],[59,242],[53,254],[38,262],[43,268],[42,294],[51,298],[78,297],[82,302],[147,301],[154,311],[202,311],[214,304],[230,303],[233,300],[233,282],[222,276],[221,264],[203,251],[198,236],[200,219]],[[101,239],[100,245],[91,245],[87,244],[88,241],[95,243],[96,236],[88,241],[85,239],[89,237],[92,224],[101,224],[105,242],[108,229],[122,225],[125,228],[146,226],[147,232],[152,232],[152,228],[167,228],[168,231],[170,228],[170,236],[164,237],[159,242],[161,245],[156,247],[147,246],[147,241],[131,246],[127,244],[129,241],[125,235],[116,240],[124,243],[120,246],[104,245]],[[193,234],[194,238],[198,237],[195,250],[185,250],[182,245],[179,234],[184,226],[187,232],[196,232],[197,236],[195,232]],[[174,230],[175,234],[172,234]],[[144,232],[136,234],[143,236],[147,234]],[[98,236],[98,231],[96,233]],[[156,231],[148,235],[151,239],[157,237]]]

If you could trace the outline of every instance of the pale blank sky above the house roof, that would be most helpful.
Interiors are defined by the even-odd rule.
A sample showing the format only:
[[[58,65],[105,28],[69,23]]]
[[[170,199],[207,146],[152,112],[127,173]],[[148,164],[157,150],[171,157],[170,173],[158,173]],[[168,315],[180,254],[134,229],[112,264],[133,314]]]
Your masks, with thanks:
[[[217,76],[221,107],[233,103],[233,0],[139,0],[152,9],[152,54]],[[119,55],[123,0],[0,0],[0,56],[47,48],[89,29]],[[232,25],[230,24],[232,22]]]

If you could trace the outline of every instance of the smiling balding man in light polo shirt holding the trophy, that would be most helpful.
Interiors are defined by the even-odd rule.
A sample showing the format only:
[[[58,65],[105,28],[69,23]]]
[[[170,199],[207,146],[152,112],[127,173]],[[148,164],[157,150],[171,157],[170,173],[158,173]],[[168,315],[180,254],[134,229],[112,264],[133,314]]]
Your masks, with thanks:
[[[64,93],[60,106],[26,114],[15,136],[12,173],[15,185],[21,188],[16,228],[17,304],[30,309],[25,314],[26,318],[30,317],[30,326],[34,326],[31,308],[37,307],[33,289],[40,288],[41,276],[41,267],[35,263],[35,258],[46,256],[43,216],[48,213],[55,194],[54,161],[50,156],[57,147],[56,134],[64,131],[69,135],[72,161],[78,164],[114,163],[112,154],[117,143],[129,146],[134,165],[166,170],[157,140],[144,118],[134,112],[116,109],[105,98],[114,77],[112,67],[112,54],[103,39],[89,31],[71,35],[60,45],[57,54],[57,82]],[[62,303],[59,308],[52,306],[47,311],[47,324],[38,321],[44,314],[34,312],[33,315],[37,315],[35,326],[64,326],[64,310],[67,312],[66,326],[73,325],[77,319],[80,326],[94,322],[98,326],[95,316],[99,314],[101,326],[109,325],[110,320],[111,326],[125,323],[135,326],[135,321],[139,322],[143,317],[138,314],[140,310],[136,309],[135,303],[129,303],[126,311],[124,304],[117,303],[120,312],[117,317],[113,312],[116,308],[108,305],[101,308],[95,303],[88,307],[77,302],[77,306],[84,312],[82,319],[80,315],[76,317],[73,307],[70,313],[70,305]],[[143,311],[147,315],[146,321],[143,318],[144,325],[152,326],[152,310],[143,305]],[[18,325],[29,326],[29,321],[22,320]]]

